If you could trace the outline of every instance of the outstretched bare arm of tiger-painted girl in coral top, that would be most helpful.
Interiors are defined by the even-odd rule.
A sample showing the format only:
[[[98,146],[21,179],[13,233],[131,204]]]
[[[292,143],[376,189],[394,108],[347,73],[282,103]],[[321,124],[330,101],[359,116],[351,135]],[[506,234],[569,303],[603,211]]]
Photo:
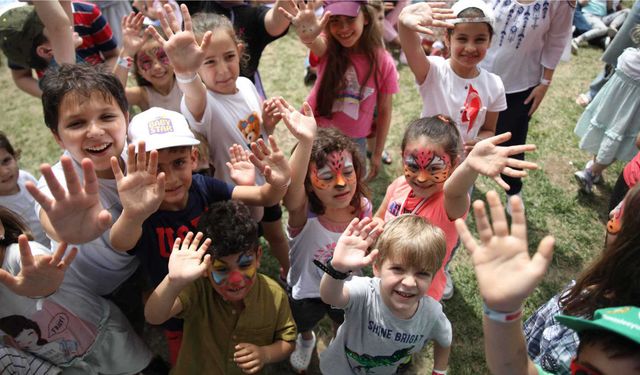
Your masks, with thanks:
[[[517,145],[502,147],[500,143],[511,138],[511,133],[503,133],[478,142],[467,158],[453,171],[444,184],[444,206],[447,215],[454,220],[462,217],[469,207],[469,189],[478,175],[493,178],[501,187],[509,185],[500,177],[500,173],[511,177],[524,177],[525,169],[537,169],[536,163],[510,158],[522,152],[533,151],[535,145]],[[521,168],[521,169],[513,169]]]

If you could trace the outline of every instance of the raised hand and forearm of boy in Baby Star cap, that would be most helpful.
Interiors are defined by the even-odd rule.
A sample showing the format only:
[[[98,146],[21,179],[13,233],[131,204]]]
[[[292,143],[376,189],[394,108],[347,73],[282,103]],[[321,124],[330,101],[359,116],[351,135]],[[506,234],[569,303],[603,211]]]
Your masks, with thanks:
[[[109,240],[118,251],[133,249],[142,236],[142,223],[160,208],[164,199],[164,173],[157,174],[158,151],[151,151],[148,163],[145,151],[144,142],[140,142],[136,157],[135,146],[129,145],[126,176],[118,159],[111,158],[122,214],[113,224]]]

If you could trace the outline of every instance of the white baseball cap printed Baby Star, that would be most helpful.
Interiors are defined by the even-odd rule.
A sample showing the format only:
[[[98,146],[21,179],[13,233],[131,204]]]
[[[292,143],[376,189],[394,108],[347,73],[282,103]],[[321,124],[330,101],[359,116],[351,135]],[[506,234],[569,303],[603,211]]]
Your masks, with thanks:
[[[181,113],[152,107],[135,115],[129,123],[129,142],[136,146],[144,141],[146,150],[200,144]]]

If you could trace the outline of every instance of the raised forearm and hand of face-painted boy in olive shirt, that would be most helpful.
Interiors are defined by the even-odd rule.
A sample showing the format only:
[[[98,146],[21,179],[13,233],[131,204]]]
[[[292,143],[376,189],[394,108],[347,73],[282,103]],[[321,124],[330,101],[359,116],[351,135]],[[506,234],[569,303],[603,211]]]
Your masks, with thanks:
[[[180,238],[176,239],[169,257],[169,273],[144,306],[144,316],[149,323],[162,324],[182,312],[178,295],[189,283],[202,277],[211,264],[211,256],[205,255],[211,240],[207,238],[198,247],[201,240],[202,233],[194,237],[191,232],[182,243]]]

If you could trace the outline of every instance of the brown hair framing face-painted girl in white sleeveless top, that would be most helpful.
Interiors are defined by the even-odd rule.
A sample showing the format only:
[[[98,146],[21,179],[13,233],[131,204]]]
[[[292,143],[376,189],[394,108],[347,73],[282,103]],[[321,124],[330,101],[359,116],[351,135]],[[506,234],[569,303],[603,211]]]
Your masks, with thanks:
[[[356,216],[360,215],[362,198],[369,196],[369,189],[364,182],[364,163],[360,156],[360,150],[349,137],[340,133],[340,131],[334,128],[320,128],[316,139],[313,141],[313,147],[311,148],[311,157],[309,163],[314,162],[318,169],[325,166],[327,163],[327,156],[334,151],[349,151],[353,156],[353,169],[356,173],[356,193],[351,199],[350,205],[354,209]],[[304,188],[309,197],[309,209],[316,215],[324,214],[324,203],[318,198],[316,193],[311,188],[311,178],[307,172],[304,178]]]

